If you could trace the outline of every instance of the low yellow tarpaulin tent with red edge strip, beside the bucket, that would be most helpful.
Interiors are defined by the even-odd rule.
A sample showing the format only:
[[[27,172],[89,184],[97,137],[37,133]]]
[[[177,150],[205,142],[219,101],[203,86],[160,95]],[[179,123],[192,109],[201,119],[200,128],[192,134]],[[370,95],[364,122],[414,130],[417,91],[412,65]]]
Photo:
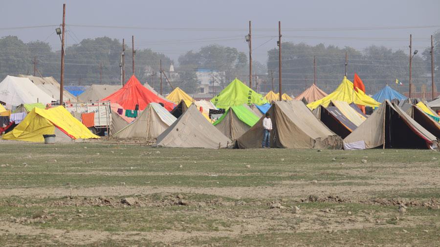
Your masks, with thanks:
[[[55,128],[71,139],[99,138],[74,118],[64,107],[48,110],[34,108],[14,130],[3,136],[6,140],[44,142],[43,135],[52,135]]]

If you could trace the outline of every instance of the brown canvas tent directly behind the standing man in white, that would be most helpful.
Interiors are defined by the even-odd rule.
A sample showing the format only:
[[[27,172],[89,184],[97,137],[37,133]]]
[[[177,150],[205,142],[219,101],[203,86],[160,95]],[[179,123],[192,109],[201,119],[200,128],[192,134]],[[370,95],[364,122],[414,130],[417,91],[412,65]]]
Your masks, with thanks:
[[[275,101],[269,109],[272,148],[340,148],[341,137],[332,133],[301,101]],[[260,148],[263,119],[237,139],[239,148]]]

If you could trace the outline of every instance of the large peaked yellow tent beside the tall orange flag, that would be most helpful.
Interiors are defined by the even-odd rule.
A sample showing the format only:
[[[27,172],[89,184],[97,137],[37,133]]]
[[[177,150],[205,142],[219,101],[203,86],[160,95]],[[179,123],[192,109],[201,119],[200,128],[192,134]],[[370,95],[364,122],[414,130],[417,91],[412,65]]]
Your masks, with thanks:
[[[319,105],[327,107],[330,104],[330,100],[345,101],[361,106],[378,107],[379,102],[375,101],[372,97],[366,95],[363,91],[353,91],[353,83],[344,76],[339,87],[324,98],[311,102],[307,106],[311,110],[317,108]]]

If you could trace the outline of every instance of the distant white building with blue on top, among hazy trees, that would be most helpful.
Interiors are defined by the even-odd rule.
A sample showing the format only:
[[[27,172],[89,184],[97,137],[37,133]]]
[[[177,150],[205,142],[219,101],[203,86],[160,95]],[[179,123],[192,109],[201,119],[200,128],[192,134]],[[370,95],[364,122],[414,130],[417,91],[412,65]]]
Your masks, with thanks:
[[[200,84],[198,85],[198,93],[210,93],[215,95],[220,92],[221,85],[226,80],[226,73],[213,69],[198,68],[196,76]]]

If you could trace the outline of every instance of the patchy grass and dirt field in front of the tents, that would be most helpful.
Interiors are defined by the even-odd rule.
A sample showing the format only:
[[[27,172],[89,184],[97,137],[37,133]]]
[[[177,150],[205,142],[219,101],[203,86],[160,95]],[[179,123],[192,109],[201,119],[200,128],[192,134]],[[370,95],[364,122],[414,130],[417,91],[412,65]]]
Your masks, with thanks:
[[[0,143],[0,246],[440,246],[439,161]]]

